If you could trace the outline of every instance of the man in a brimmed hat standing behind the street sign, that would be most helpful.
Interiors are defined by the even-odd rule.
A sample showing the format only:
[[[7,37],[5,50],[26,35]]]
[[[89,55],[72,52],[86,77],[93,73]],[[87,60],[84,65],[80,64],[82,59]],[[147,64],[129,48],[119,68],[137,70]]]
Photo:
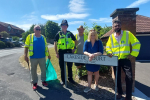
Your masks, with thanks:
[[[84,45],[84,42],[87,40],[87,35],[84,34],[84,28],[83,26],[79,26],[79,28],[77,28],[78,30],[78,34],[75,35],[76,37],[76,40],[78,41],[78,45],[77,45],[77,49],[74,53],[76,54],[83,54],[83,45]],[[77,69],[78,70],[78,76],[79,78],[82,76],[82,73],[80,71],[80,68],[82,68],[85,64],[83,63],[75,63],[75,66],[77,66]]]

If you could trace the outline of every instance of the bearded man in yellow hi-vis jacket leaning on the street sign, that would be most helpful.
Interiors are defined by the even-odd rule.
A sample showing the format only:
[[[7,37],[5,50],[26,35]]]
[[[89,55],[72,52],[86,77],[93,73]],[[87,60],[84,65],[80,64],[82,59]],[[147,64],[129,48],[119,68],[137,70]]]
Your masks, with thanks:
[[[118,95],[117,99],[122,98],[122,84],[121,84],[121,67],[125,72],[125,80],[126,80],[126,98],[125,100],[132,100],[132,67],[131,67],[131,59],[137,57],[140,50],[140,42],[139,40],[127,30],[121,30],[121,22],[119,20],[115,20],[113,22],[113,31],[114,33],[110,35],[107,44],[106,44],[106,52],[109,57],[118,56],[118,75],[117,75],[117,88]],[[132,46],[132,51],[130,48],[130,44]],[[114,67],[114,72],[116,68]]]

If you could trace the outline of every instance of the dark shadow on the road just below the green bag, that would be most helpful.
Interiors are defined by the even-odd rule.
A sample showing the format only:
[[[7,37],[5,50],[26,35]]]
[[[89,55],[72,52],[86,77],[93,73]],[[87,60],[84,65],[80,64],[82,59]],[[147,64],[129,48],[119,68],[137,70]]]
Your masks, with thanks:
[[[65,89],[59,80],[50,81],[48,84],[48,89],[38,87],[37,92],[45,96],[45,98],[42,98],[39,95],[39,100],[73,100],[70,98],[72,95],[70,91]]]

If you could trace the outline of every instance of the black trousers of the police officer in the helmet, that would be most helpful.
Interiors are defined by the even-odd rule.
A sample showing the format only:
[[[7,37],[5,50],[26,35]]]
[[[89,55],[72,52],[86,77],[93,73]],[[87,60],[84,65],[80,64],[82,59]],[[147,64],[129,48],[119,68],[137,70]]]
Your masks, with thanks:
[[[64,54],[65,53],[72,53],[71,49],[67,50],[60,50],[59,49],[59,66],[61,69],[61,80],[65,82],[65,73],[64,73]],[[68,80],[72,80],[72,62],[67,62],[68,68]]]

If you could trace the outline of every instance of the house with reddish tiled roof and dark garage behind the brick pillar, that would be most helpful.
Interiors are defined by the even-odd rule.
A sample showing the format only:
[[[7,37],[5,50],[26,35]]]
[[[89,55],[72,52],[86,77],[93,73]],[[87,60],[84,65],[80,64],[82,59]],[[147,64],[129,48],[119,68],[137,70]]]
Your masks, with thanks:
[[[110,30],[101,37],[101,40],[107,41],[112,33]],[[136,15],[136,37],[141,43],[140,53],[136,60],[150,60],[150,17]]]

